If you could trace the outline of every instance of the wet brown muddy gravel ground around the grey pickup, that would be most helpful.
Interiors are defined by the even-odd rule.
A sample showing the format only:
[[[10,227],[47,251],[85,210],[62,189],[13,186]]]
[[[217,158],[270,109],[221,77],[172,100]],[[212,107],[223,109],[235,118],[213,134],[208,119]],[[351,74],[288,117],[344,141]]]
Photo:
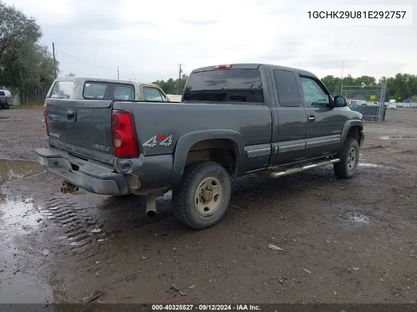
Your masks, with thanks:
[[[106,303],[414,303],[416,118],[399,109],[366,123],[351,179],[331,166],[236,179],[223,221],[196,231],[173,217],[169,193],[152,219],[141,196],[60,194],[32,162],[42,110],[2,110],[0,302],[101,291]]]

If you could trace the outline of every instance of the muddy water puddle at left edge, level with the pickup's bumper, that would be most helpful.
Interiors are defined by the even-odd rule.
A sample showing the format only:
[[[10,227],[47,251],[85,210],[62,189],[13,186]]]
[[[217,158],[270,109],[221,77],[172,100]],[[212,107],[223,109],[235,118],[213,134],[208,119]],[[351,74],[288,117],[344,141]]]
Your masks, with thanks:
[[[0,184],[41,172],[43,168],[37,162],[0,159]]]

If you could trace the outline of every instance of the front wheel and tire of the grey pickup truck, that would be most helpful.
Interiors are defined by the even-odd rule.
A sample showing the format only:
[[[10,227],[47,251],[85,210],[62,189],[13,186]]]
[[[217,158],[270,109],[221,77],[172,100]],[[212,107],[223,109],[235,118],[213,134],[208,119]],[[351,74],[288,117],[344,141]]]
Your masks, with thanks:
[[[354,150],[354,155],[351,152]],[[354,159],[352,159],[352,156]],[[343,148],[338,157],[340,162],[333,165],[335,173],[341,178],[351,178],[358,168],[359,162],[359,144],[356,139],[346,138]]]

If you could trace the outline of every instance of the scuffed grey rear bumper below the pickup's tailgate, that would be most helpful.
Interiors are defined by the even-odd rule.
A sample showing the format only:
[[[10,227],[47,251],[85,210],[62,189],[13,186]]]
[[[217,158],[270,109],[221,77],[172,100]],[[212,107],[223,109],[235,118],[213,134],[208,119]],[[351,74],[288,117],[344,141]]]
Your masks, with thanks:
[[[47,172],[88,192],[103,195],[128,194],[124,175],[115,173],[112,167],[84,161],[54,148],[40,148],[35,153]]]

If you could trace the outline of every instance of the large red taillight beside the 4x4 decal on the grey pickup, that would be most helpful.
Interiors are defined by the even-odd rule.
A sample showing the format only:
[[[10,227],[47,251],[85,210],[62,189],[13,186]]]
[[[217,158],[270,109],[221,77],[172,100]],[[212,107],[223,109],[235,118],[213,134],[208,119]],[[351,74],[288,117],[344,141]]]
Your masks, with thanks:
[[[130,110],[113,110],[112,132],[115,156],[138,156],[135,121]]]

